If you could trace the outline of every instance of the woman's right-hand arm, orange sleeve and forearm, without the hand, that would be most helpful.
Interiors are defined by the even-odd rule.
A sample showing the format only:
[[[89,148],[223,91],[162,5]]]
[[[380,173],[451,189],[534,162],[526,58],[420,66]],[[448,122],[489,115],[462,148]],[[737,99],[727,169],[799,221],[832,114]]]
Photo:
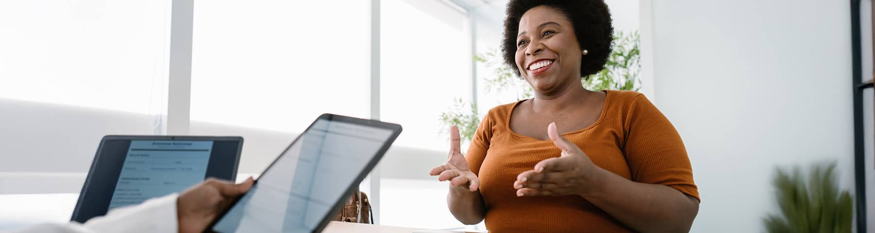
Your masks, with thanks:
[[[689,231],[699,200],[681,135],[642,94],[633,99],[626,119],[622,150],[632,180],[593,169],[604,181],[584,197],[635,230]]]

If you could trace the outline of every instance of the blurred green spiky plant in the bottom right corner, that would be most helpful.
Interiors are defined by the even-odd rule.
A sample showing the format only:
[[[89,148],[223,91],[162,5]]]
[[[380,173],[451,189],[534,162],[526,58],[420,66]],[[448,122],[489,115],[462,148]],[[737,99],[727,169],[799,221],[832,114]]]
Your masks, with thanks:
[[[836,162],[816,164],[808,181],[800,169],[778,168],[772,184],[780,214],[763,218],[767,232],[851,232],[853,200],[837,185]]]

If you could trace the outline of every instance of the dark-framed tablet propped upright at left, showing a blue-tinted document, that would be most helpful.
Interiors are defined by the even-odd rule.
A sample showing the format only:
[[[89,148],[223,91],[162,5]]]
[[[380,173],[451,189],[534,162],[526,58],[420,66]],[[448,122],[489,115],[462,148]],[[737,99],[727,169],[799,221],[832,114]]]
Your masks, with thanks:
[[[85,223],[207,177],[234,181],[242,148],[242,137],[104,136],[70,220]]]

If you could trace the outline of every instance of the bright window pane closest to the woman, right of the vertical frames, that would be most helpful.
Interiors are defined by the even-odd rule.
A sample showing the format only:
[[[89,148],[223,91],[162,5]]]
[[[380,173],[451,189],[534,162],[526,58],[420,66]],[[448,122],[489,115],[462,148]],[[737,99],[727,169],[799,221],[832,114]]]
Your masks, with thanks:
[[[447,194],[446,183],[420,174],[427,175],[430,166],[439,165],[449,149],[440,113],[450,109],[455,99],[471,100],[472,52],[466,20],[465,13],[442,1],[381,0],[381,120],[404,127],[393,147],[412,147],[417,150],[409,153],[436,154],[437,158],[409,160],[412,163],[403,165],[388,161],[393,157],[383,160],[415,169],[408,178],[381,179],[381,224],[428,229],[462,226],[441,201]],[[394,151],[402,152],[402,148]]]

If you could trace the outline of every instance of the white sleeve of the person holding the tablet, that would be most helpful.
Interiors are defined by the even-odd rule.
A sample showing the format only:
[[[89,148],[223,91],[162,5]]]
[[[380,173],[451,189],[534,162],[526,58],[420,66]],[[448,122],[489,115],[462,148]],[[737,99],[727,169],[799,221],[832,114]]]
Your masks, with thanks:
[[[40,224],[10,233],[177,232],[176,198],[177,194],[165,195],[139,205],[113,209],[106,216],[92,218],[85,224]]]

